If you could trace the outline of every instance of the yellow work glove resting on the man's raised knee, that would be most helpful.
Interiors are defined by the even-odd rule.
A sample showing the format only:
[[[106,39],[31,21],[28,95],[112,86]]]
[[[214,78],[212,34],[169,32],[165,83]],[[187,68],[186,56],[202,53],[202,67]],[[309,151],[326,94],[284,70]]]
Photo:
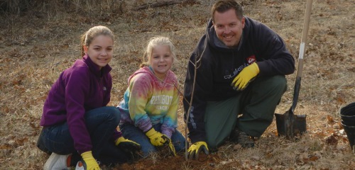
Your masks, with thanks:
[[[248,84],[253,81],[253,79],[258,75],[260,72],[258,64],[253,62],[249,66],[245,67],[241,70],[241,72],[234,78],[231,82],[231,86],[233,86],[234,90],[242,91],[248,86]]]

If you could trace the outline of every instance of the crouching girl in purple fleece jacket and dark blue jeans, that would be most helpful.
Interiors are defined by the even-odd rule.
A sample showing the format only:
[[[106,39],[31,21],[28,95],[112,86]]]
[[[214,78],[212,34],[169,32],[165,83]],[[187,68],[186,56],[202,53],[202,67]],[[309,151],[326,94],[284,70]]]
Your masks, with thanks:
[[[112,80],[114,34],[95,26],[82,35],[82,60],[65,69],[43,106],[38,147],[52,153],[44,169],[99,169],[127,162],[141,146],[116,130],[119,109],[107,106]]]

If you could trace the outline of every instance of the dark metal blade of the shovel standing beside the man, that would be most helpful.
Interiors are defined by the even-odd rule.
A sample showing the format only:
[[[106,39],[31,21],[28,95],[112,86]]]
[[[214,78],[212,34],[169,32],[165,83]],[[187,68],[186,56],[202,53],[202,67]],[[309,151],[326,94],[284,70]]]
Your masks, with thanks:
[[[284,114],[275,113],[278,136],[293,138],[302,135],[307,130],[306,115],[294,115],[287,111]]]

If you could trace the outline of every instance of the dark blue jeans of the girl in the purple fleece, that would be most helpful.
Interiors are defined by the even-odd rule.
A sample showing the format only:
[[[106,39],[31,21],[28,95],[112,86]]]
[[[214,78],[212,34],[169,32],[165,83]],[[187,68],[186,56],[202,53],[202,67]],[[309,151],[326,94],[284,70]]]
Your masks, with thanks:
[[[97,161],[109,165],[129,160],[129,154],[116,147],[112,137],[121,119],[119,109],[113,106],[95,108],[87,111],[84,118],[92,140],[92,154]],[[42,150],[46,149],[47,153],[72,154],[72,165],[77,164],[81,159],[74,148],[67,122],[43,127],[38,138],[38,147]]]

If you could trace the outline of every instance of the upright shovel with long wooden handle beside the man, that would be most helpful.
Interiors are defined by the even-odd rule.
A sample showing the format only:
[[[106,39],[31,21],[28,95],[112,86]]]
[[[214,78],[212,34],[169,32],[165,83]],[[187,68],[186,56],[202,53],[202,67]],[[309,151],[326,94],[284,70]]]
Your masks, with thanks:
[[[307,39],[308,28],[310,26],[310,13],[312,9],[312,0],[307,0],[305,21],[303,23],[302,40],[300,44],[300,53],[298,56],[298,67],[295,80],[295,89],[293,91],[293,103],[288,111],[284,114],[275,113],[276,127],[278,128],[278,136],[293,138],[296,135],[302,135],[307,130],[306,115],[295,115],[294,111],[297,106],[298,94],[300,94],[303,55],[305,55],[305,45]]]

